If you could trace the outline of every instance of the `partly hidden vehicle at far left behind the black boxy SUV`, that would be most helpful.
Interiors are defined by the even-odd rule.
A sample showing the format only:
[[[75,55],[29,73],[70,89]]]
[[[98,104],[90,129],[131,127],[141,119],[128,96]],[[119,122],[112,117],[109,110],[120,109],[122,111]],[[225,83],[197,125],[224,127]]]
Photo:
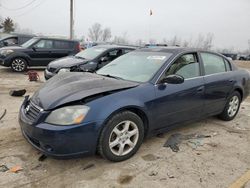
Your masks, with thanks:
[[[7,34],[0,39],[0,48],[5,46],[20,46],[35,35],[29,34]]]

